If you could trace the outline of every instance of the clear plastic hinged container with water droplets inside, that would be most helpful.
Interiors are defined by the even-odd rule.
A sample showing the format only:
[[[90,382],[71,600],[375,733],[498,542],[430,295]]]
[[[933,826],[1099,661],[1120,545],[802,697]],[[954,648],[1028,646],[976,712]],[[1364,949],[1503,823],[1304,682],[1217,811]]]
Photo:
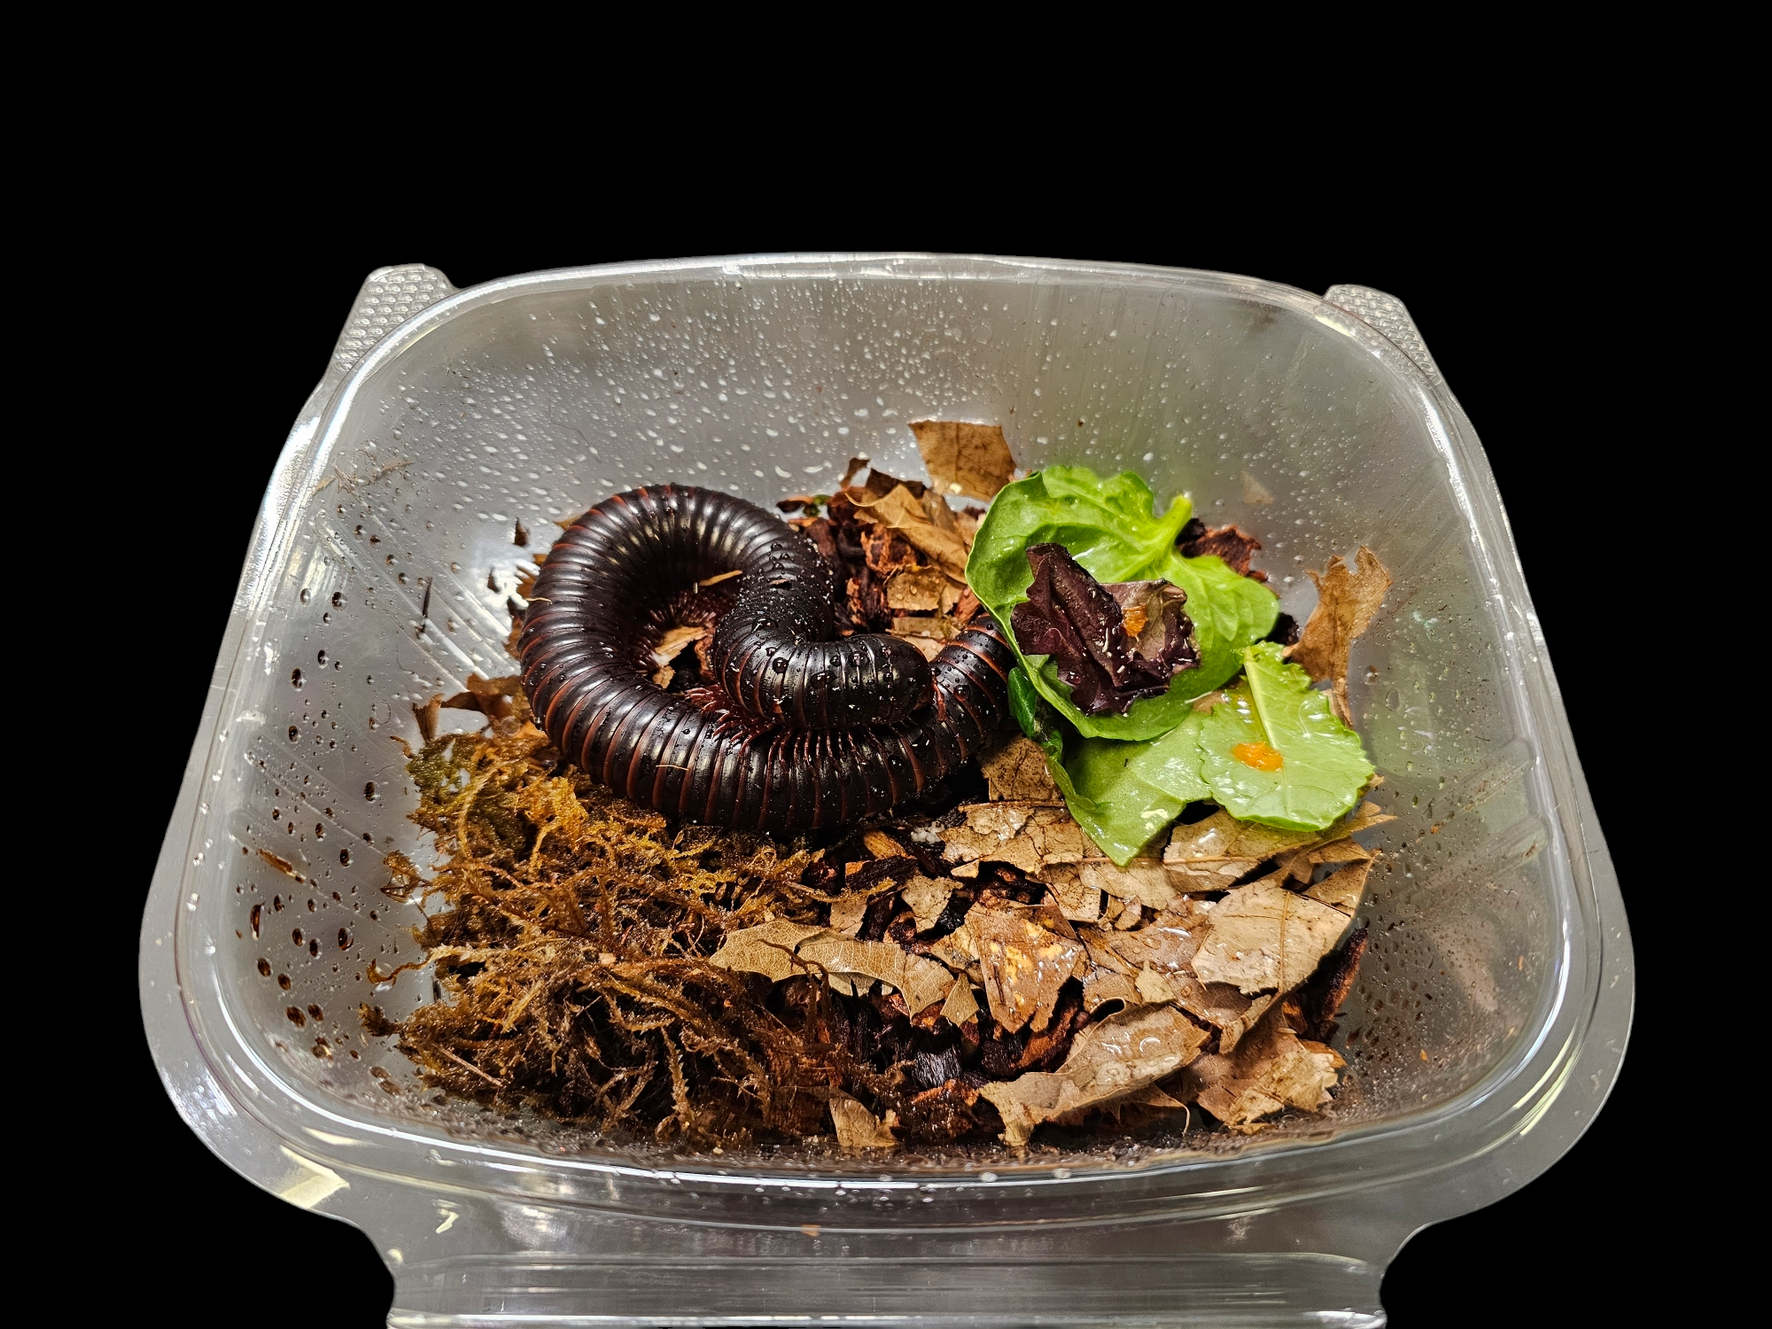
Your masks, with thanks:
[[[356,1019],[431,991],[367,978],[416,959],[381,854],[429,861],[392,739],[413,700],[512,670],[516,525],[546,548],[553,519],[659,480],[767,503],[849,454],[918,473],[921,416],[1001,422],[1026,466],[1191,491],[1265,542],[1294,613],[1331,553],[1370,544],[1396,576],[1350,677],[1398,820],[1334,1108],[1212,1150],[929,1166],[608,1150],[425,1092]],[[386,268],[264,500],[142,1006],[191,1129],[374,1239],[393,1324],[1382,1324],[1412,1232],[1531,1180],[1593,1118],[1632,960],[1488,466],[1396,299],[927,255],[464,292]]]

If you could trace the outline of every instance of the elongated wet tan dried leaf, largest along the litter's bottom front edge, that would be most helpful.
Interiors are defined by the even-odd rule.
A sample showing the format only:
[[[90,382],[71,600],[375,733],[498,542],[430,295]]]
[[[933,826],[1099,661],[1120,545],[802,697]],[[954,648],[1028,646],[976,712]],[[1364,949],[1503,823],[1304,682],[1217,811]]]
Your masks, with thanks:
[[[1207,1033],[1175,1006],[1123,1010],[1086,1026],[1054,1072],[1031,1070],[978,1090],[1003,1116],[1003,1143],[1026,1145],[1042,1122],[1076,1120],[1189,1065]]]

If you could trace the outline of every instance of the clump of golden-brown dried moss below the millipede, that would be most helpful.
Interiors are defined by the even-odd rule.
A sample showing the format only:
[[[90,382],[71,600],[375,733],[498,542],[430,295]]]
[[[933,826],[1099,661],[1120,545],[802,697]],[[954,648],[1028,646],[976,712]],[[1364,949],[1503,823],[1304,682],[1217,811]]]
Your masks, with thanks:
[[[432,1084],[618,1134],[732,1143],[820,1132],[831,1090],[881,1079],[833,1038],[851,1021],[833,1021],[822,985],[773,991],[707,962],[728,930],[826,920],[831,897],[799,881],[803,845],[673,831],[558,762],[521,693],[408,771],[441,868],[424,881],[390,856],[386,890],[429,909],[418,939],[443,999],[393,1028]],[[392,1024],[370,1008],[365,1022]]]

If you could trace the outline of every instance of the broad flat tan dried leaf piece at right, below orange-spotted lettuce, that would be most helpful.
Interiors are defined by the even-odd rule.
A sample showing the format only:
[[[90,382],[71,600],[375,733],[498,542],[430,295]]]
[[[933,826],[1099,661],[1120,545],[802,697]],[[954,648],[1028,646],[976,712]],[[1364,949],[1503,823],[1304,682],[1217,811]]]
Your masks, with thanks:
[[[1201,982],[1235,983],[1246,994],[1290,992],[1347,930],[1347,914],[1271,877],[1226,895],[1210,918],[1193,969]]]

